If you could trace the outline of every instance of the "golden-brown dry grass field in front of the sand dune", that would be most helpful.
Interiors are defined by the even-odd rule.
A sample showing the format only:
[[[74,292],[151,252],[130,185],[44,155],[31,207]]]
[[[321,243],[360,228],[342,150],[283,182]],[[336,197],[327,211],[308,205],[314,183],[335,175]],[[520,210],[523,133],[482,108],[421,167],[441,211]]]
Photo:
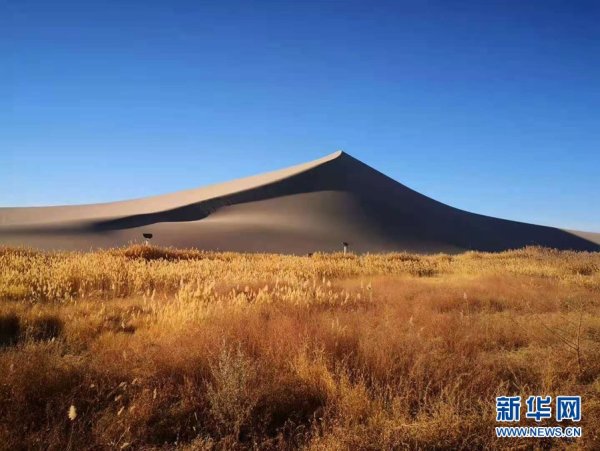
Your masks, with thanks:
[[[600,254],[0,249],[0,447],[600,449]]]

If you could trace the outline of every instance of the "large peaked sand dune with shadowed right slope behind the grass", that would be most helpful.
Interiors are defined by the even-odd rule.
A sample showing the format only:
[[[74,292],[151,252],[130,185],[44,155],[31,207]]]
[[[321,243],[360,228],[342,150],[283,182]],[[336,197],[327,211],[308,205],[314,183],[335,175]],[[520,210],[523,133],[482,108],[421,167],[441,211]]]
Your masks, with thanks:
[[[307,253],[600,250],[600,234],[482,216],[423,196],[343,152],[291,168],[143,199],[0,208],[0,244],[90,249],[139,242]]]

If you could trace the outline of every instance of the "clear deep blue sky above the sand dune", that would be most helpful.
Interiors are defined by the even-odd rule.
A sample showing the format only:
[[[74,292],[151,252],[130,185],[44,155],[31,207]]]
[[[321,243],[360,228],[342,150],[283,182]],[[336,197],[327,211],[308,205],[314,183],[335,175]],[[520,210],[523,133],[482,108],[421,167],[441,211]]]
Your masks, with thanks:
[[[343,149],[459,208],[600,231],[600,2],[0,5],[0,205]]]

